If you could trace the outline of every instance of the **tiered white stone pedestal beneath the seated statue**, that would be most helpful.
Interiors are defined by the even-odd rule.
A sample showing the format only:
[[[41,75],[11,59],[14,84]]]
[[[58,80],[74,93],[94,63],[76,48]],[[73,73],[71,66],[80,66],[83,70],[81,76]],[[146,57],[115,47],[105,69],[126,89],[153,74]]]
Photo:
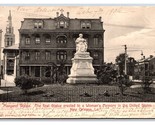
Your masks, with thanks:
[[[94,74],[92,60],[93,58],[90,57],[89,52],[75,53],[67,83],[97,83],[98,80]]]

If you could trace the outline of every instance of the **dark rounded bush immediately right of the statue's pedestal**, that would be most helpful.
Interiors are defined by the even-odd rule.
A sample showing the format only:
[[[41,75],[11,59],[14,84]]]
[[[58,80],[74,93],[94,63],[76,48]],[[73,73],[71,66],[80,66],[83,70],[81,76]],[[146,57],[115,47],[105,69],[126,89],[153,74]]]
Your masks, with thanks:
[[[116,78],[117,70],[112,63],[107,63],[97,69],[96,74],[99,84],[109,84]]]

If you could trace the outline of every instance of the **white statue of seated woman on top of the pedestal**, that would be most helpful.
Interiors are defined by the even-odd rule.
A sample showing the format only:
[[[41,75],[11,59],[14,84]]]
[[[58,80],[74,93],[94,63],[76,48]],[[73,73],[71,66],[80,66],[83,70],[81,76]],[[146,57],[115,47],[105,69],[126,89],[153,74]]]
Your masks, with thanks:
[[[79,37],[75,41],[76,53],[86,52],[88,45],[87,41],[83,38],[83,34],[79,34]]]

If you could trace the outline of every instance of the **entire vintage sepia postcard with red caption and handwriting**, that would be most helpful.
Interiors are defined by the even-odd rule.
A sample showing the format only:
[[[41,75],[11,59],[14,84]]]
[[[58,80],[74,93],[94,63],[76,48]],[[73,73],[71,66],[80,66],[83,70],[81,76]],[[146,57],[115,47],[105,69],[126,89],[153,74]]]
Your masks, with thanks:
[[[0,118],[155,118],[155,6],[0,6]]]

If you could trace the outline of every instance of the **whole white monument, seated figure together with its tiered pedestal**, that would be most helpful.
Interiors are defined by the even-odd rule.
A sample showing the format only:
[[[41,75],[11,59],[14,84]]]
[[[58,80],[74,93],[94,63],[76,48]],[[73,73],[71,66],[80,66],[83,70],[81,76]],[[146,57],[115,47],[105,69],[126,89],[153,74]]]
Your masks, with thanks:
[[[83,34],[79,34],[75,44],[76,53],[74,54],[74,58],[72,58],[71,74],[68,75],[67,83],[97,83],[98,80],[94,74],[92,65],[93,58],[87,52],[88,44],[83,38]]]

